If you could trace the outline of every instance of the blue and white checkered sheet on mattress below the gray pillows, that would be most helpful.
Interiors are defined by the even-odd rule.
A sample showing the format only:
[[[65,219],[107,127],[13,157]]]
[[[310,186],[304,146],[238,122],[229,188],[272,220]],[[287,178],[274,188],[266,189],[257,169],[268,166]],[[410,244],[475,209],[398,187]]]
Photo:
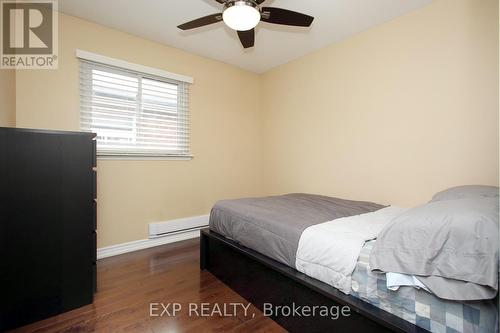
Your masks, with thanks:
[[[431,332],[498,332],[497,300],[457,302],[413,287],[387,289],[385,274],[372,272],[368,266],[374,243],[366,242],[361,250],[352,274],[352,296]]]

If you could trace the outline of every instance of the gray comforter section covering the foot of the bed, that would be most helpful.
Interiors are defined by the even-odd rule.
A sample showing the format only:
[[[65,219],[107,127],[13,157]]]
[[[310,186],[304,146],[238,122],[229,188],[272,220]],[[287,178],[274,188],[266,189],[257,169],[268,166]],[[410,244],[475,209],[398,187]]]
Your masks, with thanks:
[[[212,209],[210,229],[295,268],[299,239],[307,227],[383,207],[300,193],[224,200]]]

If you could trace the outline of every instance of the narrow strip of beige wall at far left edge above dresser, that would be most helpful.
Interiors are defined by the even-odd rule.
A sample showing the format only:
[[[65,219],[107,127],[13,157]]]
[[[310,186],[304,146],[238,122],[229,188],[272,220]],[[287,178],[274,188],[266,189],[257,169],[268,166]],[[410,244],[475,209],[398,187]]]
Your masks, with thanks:
[[[16,72],[0,69],[0,127],[16,125]]]

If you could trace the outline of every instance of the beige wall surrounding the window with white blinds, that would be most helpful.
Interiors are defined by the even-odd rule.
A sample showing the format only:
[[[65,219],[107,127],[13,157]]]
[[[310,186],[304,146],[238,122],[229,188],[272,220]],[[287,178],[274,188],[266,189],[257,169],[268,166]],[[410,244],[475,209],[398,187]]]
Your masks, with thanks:
[[[259,195],[259,77],[236,67],[60,15],[59,69],[17,72],[17,126],[78,130],[75,49],[192,76],[191,161],[98,162],[98,246],[147,238],[147,224],[207,214],[221,198]]]

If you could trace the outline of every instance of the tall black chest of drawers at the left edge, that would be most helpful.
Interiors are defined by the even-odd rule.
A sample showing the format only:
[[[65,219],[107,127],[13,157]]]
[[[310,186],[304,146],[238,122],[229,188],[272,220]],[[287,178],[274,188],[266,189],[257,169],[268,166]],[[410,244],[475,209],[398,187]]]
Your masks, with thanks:
[[[92,303],[94,138],[0,128],[0,332]]]

